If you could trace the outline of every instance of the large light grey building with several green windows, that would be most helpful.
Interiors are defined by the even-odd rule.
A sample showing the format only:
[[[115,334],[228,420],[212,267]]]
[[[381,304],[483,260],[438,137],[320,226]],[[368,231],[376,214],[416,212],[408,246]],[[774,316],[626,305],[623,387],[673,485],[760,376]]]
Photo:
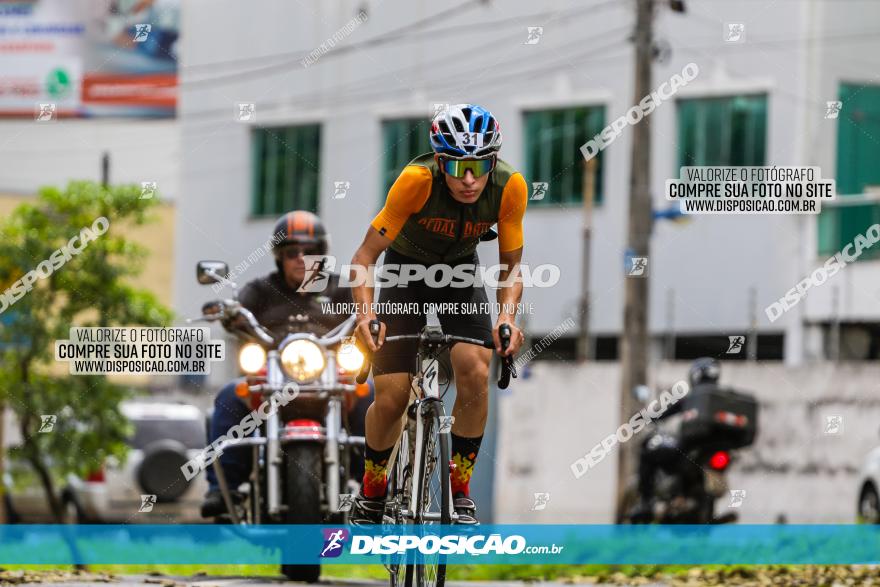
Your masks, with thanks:
[[[880,49],[880,31],[871,28],[880,5],[686,0],[681,14],[657,4],[665,57],[654,85],[687,63],[699,66],[651,115],[657,209],[668,207],[665,180],[686,162],[817,166],[840,193],[880,184],[880,83],[870,59]],[[501,121],[502,157],[526,181],[550,183],[548,197],[526,213],[525,260],[556,263],[562,277],[526,292],[529,330],[541,335],[576,316],[578,148],[634,103],[633,22],[632,2],[594,0],[458,10],[424,0],[185,3],[177,309],[195,315],[212,295],[195,282],[197,260],[240,263],[288,209],[315,209],[332,234],[331,253],[347,262],[388,181],[425,150],[424,122],[411,133],[409,121],[426,120],[435,103],[475,102]],[[738,37],[730,24],[744,25]],[[528,27],[543,29],[530,37]],[[826,118],[826,102],[835,100],[842,111]],[[254,104],[248,121],[238,120],[242,103]],[[616,356],[622,323],[631,136],[624,131],[600,159],[591,328],[605,358]],[[344,198],[334,197],[335,182],[350,182]],[[876,358],[880,272],[869,254],[776,322],[764,313],[880,219],[876,205],[849,210],[842,220],[826,212],[821,229],[815,216],[794,215],[658,222],[649,260],[655,354],[664,336],[676,336],[675,355],[688,358],[754,327],[759,359],[784,352],[798,364],[823,356],[837,317],[843,356]],[[481,246],[483,261],[493,262],[494,243]],[[243,280],[271,267],[265,257]],[[568,356],[565,341],[555,344]]]

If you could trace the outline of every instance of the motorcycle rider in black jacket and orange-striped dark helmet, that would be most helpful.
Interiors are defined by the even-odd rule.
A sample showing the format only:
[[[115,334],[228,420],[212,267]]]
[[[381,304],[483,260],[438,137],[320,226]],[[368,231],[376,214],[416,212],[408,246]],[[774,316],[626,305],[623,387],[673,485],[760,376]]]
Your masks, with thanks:
[[[295,210],[288,212],[275,223],[272,250],[275,267],[269,275],[250,281],[238,294],[238,301],[250,310],[257,321],[268,328],[276,341],[284,338],[290,329],[293,316],[304,315],[309,319],[309,329],[323,335],[348,318],[345,314],[324,313],[323,303],[348,303],[348,288],[339,287],[339,275],[327,273],[326,288],[317,293],[299,292],[297,289],[306,277],[303,255],[327,253],[330,237],[321,220],[311,212]],[[238,380],[227,383],[214,400],[211,434],[208,444],[225,434],[247,416],[251,408],[235,394]],[[366,398],[369,401],[369,398]],[[360,412],[364,410],[361,409]],[[355,434],[363,434],[363,414],[352,418]],[[358,421],[358,423],[355,423]],[[220,456],[220,466],[232,493],[239,503],[243,495],[236,488],[247,480],[253,466],[250,448],[230,448]],[[226,513],[226,503],[220,493],[213,467],[207,469],[208,492],[202,503],[202,517],[210,518]]]

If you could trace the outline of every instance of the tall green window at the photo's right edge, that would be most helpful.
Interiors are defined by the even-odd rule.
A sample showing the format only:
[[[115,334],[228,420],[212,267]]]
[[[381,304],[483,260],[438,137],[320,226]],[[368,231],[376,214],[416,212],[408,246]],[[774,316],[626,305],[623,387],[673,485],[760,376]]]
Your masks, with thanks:
[[[857,234],[880,223],[877,203],[847,203],[865,188],[880,187],[880,86],[842,84],[843,108],[837,120],[837,194],[840,205],[819,214],[819,255],[833,255]],[[864,249],[859,260],[880,257],[880,247]]]

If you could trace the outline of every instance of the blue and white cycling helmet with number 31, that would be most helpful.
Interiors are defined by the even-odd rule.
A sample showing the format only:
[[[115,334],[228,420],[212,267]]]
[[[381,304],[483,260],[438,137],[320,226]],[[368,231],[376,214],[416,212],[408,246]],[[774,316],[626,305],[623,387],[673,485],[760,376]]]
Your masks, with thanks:
[[[485,158],[501,149],[501,125],[476,104],[450,104],[431,121],[431,148],[453,159]]]

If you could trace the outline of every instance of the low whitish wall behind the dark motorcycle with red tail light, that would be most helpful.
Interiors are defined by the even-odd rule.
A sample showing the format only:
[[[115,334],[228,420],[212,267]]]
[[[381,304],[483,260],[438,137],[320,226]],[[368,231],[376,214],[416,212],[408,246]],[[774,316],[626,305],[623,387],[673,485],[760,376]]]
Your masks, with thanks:
[[[496,522],[612,523],[618,452],[580,479],[569,467],[617,429],[619,365],[533,366],[529,379],[514,380],[497,400]],[[652,382],[672,385],[687,367],[662,363]],[[780,514],[789,523],[855,521],[858,471],[880,444],[878,381],[877,365],[723,366],[722,384],[754,393],[760,404],[757,440],[737,451],[729,475],[731,489],[746,491],[742,522],[774,523]],[[843,417],[842,432],[825,434],[825,418],[834,415]],[[536,492],[551,494],[542,511],[531,510]],[[725,510],[727,500],[719,505]]]

